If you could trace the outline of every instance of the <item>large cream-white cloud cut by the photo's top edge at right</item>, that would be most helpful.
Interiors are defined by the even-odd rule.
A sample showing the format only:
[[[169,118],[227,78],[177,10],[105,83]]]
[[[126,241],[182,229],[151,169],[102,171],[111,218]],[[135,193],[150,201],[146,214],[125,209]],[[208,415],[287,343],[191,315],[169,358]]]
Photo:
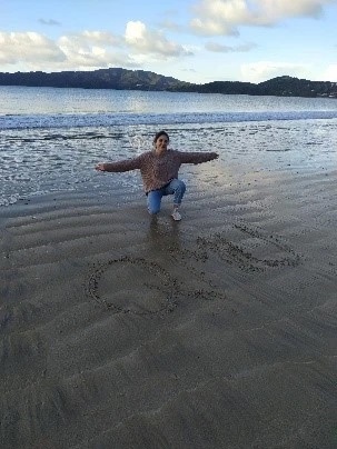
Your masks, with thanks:
[[[237,36],[241,26],[274,26],[291,18],[321,16],[336,0],[200,0],[190,29],[204,36]]]

